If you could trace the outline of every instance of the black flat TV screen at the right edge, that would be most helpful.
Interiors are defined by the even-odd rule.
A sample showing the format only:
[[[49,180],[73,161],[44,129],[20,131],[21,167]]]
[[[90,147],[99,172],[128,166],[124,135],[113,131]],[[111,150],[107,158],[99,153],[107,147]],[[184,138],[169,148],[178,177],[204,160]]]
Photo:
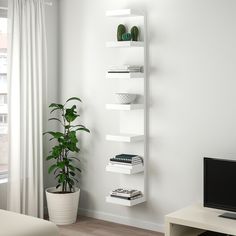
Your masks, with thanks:
[[[204,206],[236,212],[236,161],[204,158]]]

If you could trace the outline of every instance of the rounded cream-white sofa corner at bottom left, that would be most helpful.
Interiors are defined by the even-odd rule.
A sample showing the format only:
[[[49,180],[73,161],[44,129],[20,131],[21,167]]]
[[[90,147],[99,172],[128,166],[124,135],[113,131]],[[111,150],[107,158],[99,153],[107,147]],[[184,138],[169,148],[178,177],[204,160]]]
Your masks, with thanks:
[[[0,236],[59,236],[49,221],[0,210]]]

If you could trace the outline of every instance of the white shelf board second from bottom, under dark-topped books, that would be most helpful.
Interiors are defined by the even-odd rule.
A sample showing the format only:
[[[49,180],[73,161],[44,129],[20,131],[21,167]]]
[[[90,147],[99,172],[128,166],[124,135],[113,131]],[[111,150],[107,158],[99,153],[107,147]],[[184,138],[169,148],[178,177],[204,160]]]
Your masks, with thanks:
[[[134,166],[122,166],[116,164],[108,164],[106,166],[106,171],[120,174],[132,175],[144,171],[143,164],[138,164]]]

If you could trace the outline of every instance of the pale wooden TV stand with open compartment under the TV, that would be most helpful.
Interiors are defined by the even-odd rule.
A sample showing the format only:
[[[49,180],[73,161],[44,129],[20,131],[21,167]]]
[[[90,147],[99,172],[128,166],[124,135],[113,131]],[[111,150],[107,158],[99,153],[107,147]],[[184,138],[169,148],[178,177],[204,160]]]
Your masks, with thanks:
[[[224,211],[192,205],[165,217],[165,236],[198,236],[213,231],[236,236],[236,221],[219,217]]]

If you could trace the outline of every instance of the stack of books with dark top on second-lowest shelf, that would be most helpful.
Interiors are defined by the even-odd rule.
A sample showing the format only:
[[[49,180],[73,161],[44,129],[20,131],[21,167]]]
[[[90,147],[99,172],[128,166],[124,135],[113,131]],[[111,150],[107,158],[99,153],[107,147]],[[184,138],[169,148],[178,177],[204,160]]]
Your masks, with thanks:
[[[137,156],[137,155],[119,154],[113,158],[110,158],[109,164],[115,165],[115,166],[132,168],[133,166],[136,166],[136,165],[143,165],[143,159],[142,157]]]

